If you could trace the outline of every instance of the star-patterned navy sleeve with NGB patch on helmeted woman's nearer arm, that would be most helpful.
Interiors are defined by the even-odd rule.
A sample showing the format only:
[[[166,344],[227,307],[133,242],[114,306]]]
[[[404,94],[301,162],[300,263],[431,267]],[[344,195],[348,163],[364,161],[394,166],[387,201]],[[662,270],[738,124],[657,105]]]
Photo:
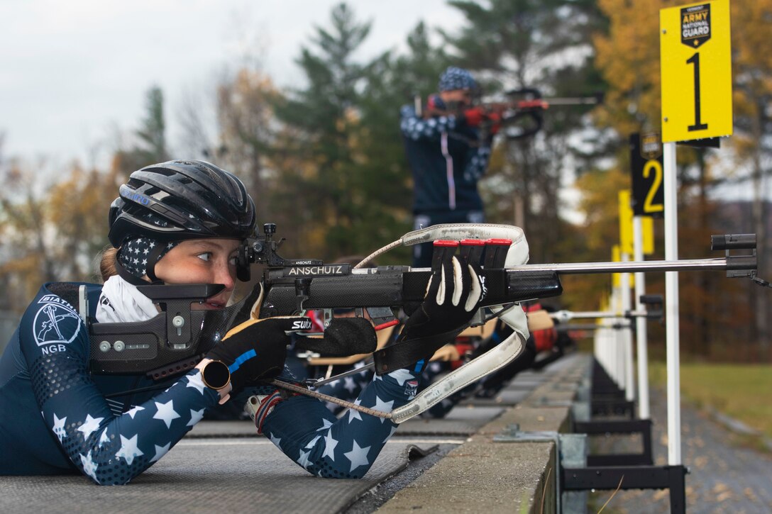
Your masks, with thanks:
[[[205,387],[194,370],[149,401],[115,415],[87,371],[89,341],[80,317],[59,316],[52,337],[66,343],[41,343],[39,337],[30,337],[22,344],[32,388],[59,445],[97,484],[129,482],[157,462],[218,401],[217,392]]]

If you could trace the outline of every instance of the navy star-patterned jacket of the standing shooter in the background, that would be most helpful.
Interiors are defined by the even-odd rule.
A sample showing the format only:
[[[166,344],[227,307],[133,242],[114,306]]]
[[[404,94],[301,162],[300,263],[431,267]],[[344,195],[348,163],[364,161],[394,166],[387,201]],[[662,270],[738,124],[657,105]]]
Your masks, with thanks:
[[[442,109],[442,100],[430,103]],[[415,107],[400,110],[405,155],[413,174],[415,214],[482,211],[477,182],[488,167],[492,138],[479,140],[479,131],[455,116],[424,119]]]

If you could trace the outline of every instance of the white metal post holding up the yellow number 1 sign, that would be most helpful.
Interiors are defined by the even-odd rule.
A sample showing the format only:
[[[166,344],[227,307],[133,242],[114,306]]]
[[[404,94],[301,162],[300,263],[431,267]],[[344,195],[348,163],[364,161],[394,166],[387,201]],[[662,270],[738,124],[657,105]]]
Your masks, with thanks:
[[[678,181],[675,143],[662,145],[665,175],[665,260],[678,259]],[[679,377],[678,272],[665,272],[665,337],[668,368],[668,464],[681,464],[681,379]]]

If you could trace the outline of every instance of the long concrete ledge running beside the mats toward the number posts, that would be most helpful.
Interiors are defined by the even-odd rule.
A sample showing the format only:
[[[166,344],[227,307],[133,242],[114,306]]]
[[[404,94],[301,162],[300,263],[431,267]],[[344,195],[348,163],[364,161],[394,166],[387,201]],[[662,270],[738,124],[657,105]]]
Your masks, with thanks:
[[[571,401],[590,364],[585,357],[567,357],[559,370],[546,370],[547,380],[522,404],[483,426],[377,512],[557,512],[554,442],[494,437],[513,425],[567,431]]]

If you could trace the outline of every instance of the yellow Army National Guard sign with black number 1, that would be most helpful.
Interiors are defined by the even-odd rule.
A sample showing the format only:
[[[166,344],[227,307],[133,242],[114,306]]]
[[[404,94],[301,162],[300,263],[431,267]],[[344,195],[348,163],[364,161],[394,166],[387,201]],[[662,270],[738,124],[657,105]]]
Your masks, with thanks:
[[[662,142],[732,134],[729,0],[659,11]]]

